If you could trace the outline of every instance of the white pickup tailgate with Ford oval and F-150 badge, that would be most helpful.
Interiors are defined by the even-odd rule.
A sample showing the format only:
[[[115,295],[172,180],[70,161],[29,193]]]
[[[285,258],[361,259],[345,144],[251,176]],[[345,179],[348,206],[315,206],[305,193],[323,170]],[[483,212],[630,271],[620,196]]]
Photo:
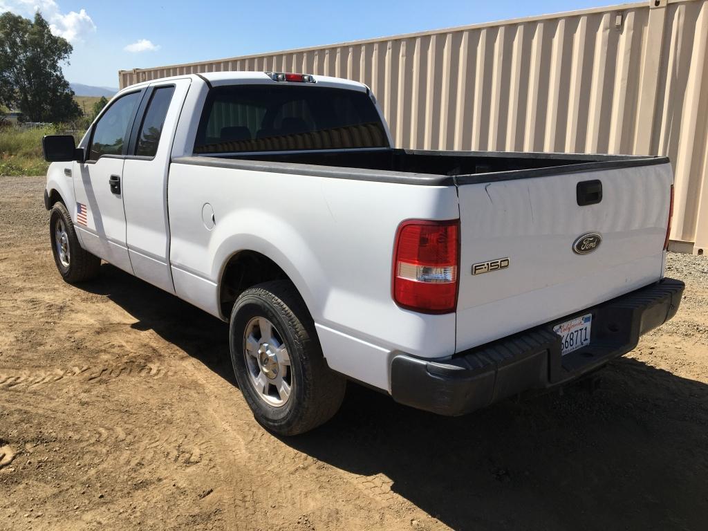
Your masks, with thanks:
[[[598,163],[591,171],[461,179],[456,350],[659,280],[673,176],[666,159],[658,160],[662,164],[647,159],[632,167]],[[578,205],[578,183],[595,180],[602,183],[602,200]],[[586,254],[573,251],[578,237],[590,233],[601,236],[600,244]]]

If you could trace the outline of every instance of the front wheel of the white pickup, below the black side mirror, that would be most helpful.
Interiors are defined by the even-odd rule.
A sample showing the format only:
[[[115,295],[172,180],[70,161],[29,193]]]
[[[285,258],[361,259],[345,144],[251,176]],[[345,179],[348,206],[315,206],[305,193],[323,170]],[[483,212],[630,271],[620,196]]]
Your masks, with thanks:
[[[57,269],[66,282],[75,284],[98,276],[101,258],[81,249],[72,217],[61,202],[52,207],[49,237]]]

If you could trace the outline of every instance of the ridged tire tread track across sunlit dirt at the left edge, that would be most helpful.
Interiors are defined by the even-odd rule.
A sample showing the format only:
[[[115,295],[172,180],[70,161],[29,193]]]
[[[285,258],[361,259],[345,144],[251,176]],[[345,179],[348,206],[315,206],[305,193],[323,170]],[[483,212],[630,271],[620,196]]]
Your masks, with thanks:
[[[158,379],[171,374],[171,370],[158,362],[127,360],[109,365],[74,365],[67,369],[31,371],[4,370],[0,372],[0,389],[34,390],[47,385],[62,384],[69,380],[81,382],[107,382],[120,377],[148,377]]]

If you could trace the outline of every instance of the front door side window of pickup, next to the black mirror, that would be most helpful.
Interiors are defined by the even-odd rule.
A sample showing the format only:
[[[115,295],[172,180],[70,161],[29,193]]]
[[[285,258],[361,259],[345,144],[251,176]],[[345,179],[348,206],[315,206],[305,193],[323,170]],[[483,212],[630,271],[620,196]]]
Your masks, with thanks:
[[[96,161],[101,155],[122,154],[123,145],[127,141],[130,118],[139,101],[140,93],[132,92],[110,105],[93,130],[89,160]]]

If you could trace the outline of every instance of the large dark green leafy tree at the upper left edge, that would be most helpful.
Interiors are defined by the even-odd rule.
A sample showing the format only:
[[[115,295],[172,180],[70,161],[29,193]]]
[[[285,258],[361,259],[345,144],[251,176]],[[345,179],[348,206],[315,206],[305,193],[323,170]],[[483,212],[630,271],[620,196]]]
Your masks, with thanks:
[[[59,66],[72,45],[52,35],[40,13],[34,21],[9,11],[0,15],[0,103],[18,108],[31,122],[68,122],[81,115]]]

